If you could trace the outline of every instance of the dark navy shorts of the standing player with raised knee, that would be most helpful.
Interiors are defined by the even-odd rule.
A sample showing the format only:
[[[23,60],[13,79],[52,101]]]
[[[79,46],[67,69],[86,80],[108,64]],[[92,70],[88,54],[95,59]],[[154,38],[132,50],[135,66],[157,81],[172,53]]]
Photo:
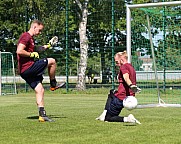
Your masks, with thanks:
[[[37,60],[30,68],[21,73],[20,76],[30,85],[32,89],[35,89],[39,83],[42,83],[43,74],[47,65],[47,58]]]

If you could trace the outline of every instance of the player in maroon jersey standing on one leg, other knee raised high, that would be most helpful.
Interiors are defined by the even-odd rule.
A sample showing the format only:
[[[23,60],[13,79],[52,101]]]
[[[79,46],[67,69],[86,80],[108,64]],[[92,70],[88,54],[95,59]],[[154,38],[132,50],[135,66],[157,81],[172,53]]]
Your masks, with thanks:
[[[28,32],[24,32],[17,44],[17,60],[18,60],[18,71],[20,76],[30,85],[35,91],[36,103],[39,110],[39,121],[53,121],[46,115],[44,109],[44,87],[42,85],[43,74],[46,68],[48,68],[48,74],[50,77],[50,90],[54,91],[57,88],[62,87],[65,83],[57,84],[55,79],[56,61],[53,58],[39,59],[38,52],[35,52],[34,36],[41,34],[44,25],[39,20],[34,20],[31,23]],[[40,50],[51,48],[51,41],[44,46],[40,47]]]

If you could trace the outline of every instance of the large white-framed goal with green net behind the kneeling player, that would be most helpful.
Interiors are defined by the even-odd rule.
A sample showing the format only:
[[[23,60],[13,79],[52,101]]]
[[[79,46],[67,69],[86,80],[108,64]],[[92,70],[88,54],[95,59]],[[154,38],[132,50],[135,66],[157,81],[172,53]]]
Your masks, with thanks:
[[[138,107],[181,107],[181,1],[127,5],[127,52]]]

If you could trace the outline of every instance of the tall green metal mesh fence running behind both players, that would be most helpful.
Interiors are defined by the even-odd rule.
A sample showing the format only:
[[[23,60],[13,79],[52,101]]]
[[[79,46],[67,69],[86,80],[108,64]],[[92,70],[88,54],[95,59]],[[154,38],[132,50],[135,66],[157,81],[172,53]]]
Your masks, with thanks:
[[[80,7],[74,0],[54,0],[50,2],[42,1],[41,6],[39,6],[38,2],[39,1],[37,0],[34,2],[25,0],[23,2],[24,5],[9,5],[12,7],[16,15],[11,14],[1,18],[1,21],[3,21],[1,31],[3,33],[0,35],[0,48],[3,51],[10,51],[13,53],[15,58],[15,67],[17,67],[15,51],[19,35],[23,31],[28,30],[32,19],[37,18],[42,20],[45,24],[45,28],[42,35],[35,38],[36,45],[47,43],[54,35],[59,37],[59,43],[53,50],[41,53],[40,57],[55,58],[57,61],[56,75],[58,80],[65,80],[68,84],[74,84],[74,87],[72,88],[75,88],[81,52],[79,37]],[[89,1],[86,27],[88,54],[85,79],[87,88],[93,85],[116,88],[117,69],[114,65],[114,54],[118,51],[127,49],[127,4],[128,3],[123,0],[104,0],[99,2]],[[6,3],[4,3],[4,5],[6,6]],[[46,9],[47,6],[49,6],[48,11]],[[180,9],[178,9],[177,12],[180,12]],[[139,14],[140,13],[137,12],[134,16]],[[12,16],[14,17],[12,18]],[[139,22],[143,22],[140,19],[137,20]],[[9,21],[11,23],[10,25],[8,25]],[[132,30],[134,31],[133,33],[137,33],[138,29],[135,28]],[[149,41],[144,38],[145,41],[141,43],[141,41],[139,41],[139,35],[134,34],[133,37],[138,39],[138,41],[133,45],[133,51],[131,52],[134,56],[132,57],[132,63],[137,70],[138,84],[143,86],[143,88],[146,88],[144,85],[150,86],[149,83],[152,83],[152,87],[154,88],[154,72],[146,69],[143,71],[144,64],[148,65],[151,63],[152,65],[152,62],[145,62],[142,54],[151,55],[151,52],[141,51],[139,55],[136,49],[136,46],[142,46],[143,43],[148,44]],[[160,50],[165,51],[161,48]],[[135,55],[135,53],[138,55]],[[160,66],[162,63],[165,64],[166,60],[167,58],[161,55],[161,59],[159,60]],[[47,72],[45,72],[45,83],[49,82],[47,80],[47,75]],[[90,80],[92,79],[92,81],[89,81],[88,77]],[[165,82],[164,85],[167,86],[168,83],[169,87],[170,85],[175,85],[174,83],[177,83],[177,85],[180,86],[180,69],[178,69],[178,71],[166,69],[164,73],[162,71],[158,71],[158,77],[161,86],[163,81]],[[16,78],[18,79],[17,83],[19,83],[19,77],[17,76]],[[70,86],[67,85],[66,89],[68,90],[69,87]]]

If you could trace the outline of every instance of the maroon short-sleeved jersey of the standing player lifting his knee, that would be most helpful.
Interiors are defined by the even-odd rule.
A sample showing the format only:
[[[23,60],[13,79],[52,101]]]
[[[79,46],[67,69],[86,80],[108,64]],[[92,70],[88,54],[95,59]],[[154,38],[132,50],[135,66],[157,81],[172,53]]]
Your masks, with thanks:
[[[25,32],[23,33],[19,40],[18,40],[18,45],[19,44],[24,44],[27,52],[33,52],[34,51],[34,39],[33,37],[28,33]],[[17,60],[18,60],[18,71],[19,73],[23,73],[25,70],[27,70],[33,63],[34,59],[30,57],[22,57],[20,55],[17,55]]]

